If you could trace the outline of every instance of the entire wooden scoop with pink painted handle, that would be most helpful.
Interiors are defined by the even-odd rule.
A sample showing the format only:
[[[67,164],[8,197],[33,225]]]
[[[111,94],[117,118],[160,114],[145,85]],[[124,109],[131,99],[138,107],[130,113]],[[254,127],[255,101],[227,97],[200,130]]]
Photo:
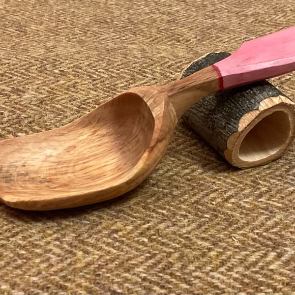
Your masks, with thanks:
[[[0,199],[48,210],[117,197],[163,157],[179,118],[205,95],[295,70],[295,27],[163,87],[130,89],[78,120],[0,142]]]

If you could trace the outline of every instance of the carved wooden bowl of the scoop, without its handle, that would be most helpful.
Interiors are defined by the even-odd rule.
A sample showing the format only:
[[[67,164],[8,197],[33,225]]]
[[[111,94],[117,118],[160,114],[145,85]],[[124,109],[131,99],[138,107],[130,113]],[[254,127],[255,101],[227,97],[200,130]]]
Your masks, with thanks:
[[[3,202],[75,207],[134,188],[162,158],[176,124],[165,93],[152,98],[150,88],[130,90],[69,125],[0,142],[9,155],[1,163]]]

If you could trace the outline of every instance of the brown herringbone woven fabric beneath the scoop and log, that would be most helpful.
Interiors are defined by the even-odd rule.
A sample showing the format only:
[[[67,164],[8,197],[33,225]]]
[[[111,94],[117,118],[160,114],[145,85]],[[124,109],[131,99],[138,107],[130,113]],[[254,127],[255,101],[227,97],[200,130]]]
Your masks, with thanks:
[[[208,52],[294,25],[294,0],[0,0],[0,134],[64,125]],[[295,97],[295,74],[271,82]],[[153,174],[97,205],[0,205],[0,294],[295,292],[295,145],[232,168],[181,120]]]

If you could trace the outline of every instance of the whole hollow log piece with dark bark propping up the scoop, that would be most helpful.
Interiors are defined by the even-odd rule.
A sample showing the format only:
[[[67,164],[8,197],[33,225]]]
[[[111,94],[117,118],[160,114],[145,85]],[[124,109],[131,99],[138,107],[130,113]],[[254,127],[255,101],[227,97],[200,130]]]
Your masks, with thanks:
[[[229,53],[210,53],[196,60],[181,78]],[[192,106],[183,118],[231,164],[248,168],[282,155],[295,134],[294,102],[269,82],[222,90]]]

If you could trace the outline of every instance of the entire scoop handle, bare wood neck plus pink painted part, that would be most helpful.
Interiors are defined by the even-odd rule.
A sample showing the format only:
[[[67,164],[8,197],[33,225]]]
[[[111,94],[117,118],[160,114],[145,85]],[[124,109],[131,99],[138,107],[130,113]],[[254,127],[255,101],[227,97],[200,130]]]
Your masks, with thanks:
[[[177,118],[207,94],[295,70],[295,26],[243,43],[230,57],[167,87]]]

